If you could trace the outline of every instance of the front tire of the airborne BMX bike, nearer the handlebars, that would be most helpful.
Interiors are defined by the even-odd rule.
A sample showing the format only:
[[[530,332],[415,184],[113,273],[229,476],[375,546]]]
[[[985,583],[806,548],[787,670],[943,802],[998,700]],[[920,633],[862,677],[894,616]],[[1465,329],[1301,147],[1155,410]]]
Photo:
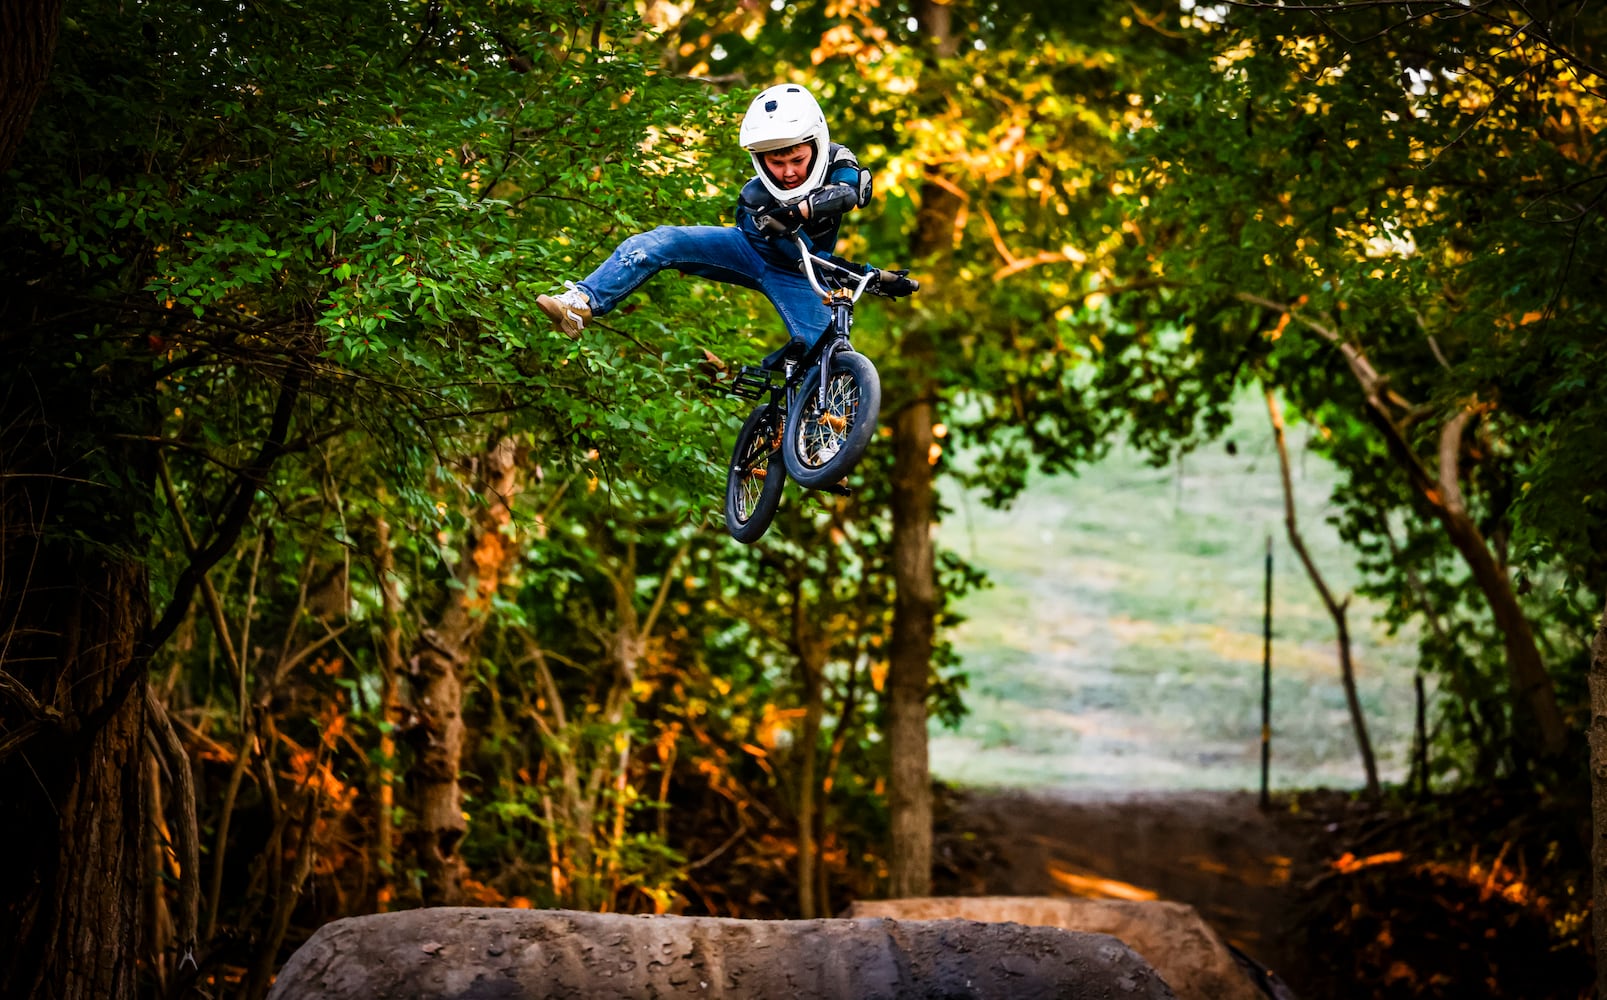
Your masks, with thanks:
[[[853,471],[882,413],[882,379],[863,354],[832,355],[824,410],[816,399],[820,378],[818,367],[804,376],[781,445],[787,474],[808,489],[831,486]]]

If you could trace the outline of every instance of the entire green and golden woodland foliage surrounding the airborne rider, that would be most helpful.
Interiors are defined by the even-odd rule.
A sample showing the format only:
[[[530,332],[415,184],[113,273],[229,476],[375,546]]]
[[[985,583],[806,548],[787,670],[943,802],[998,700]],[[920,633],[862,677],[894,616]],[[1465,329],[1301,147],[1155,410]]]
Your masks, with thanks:
[[[0,423],[48,426],[74,484],[40,531],[151,577],[141,650],[196,757],[206,878],[201,969],[156,920],[153,992],[260,994],[292,916],[427,899],[413,796],[458,780],[424,767],[437,653],[464,685],[476,899],[775,915],[874,891],[889,449],[739,548],[709,514],[736,407],[693,373],[773,346],[768,305],[664,275],[575,342],[535,307],[632,232],[728,222],[726,137],[775,79],[876,174],[842,249],[924,254],[918,310],[857,333],[890,410],[935,395],[937,471],[1008,502],[1028,457],[1075,468],[1118,432],[1163,457],[1276,384],[1347,469],[1374,592],[1429,624],[1441,760],[1515,767],[1488,609],[1335,341],[1387,375],[1421,460],[1469,415],[1458,481],[1576,704],[1607,455],[1591,53],[1483,6],[1191,10],[76,5],[0,188]],[[945,625],[980,580],[938,577]],[[953,720],[942,643],[934,667]]]

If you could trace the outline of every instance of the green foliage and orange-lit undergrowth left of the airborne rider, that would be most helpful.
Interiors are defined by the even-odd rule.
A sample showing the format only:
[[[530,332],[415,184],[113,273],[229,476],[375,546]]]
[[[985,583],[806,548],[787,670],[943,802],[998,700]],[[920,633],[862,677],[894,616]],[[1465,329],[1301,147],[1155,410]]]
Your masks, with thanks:
[[[424,749],[392,658],[416,670],[460,605],[490,625],[466,670],[466,892],[786,905],[741,894],[776,875],[741,865],[792,836],[787,775],[742,749],[786,746],[786,645],[733,643],[746,625],[689,600],[699,577],[763,592],[707,514],[734,415],[691,375],[771,341],[765,304],[665,277],[579,344],[534,304],[628,232],[728,209],[741,164],[707,138],[726,96],[656,72],[641,31],[540,2],[80,5],[66,24],[6,178],[0,252],[26,278],[8,392],[90,394],[77,513],[138,513],[106,543],[167,606],[154,677],[198,757],[202,871],[183,878],[204,881],[193,974],[214,986],[265,986],[239,971],[272,963],[297,899],[310,924],[421,899],[386,833],[419,820]],[[121,437],[145,465],[104,447]],[[493,547],[517,550],[506,580],[480,564],[498,441],[525,457]],[[673,606],[633,632],[654,572]],[[850,701],[873,696],[873,656],[847,667]],[[848,814],[876,809],[873,732],[860,709],[823,748]],[[730,823],[699,820],[722,801]],[[874,849],[824,857],[852,878]],[[696,894],[691,873],[726,862],[734,889]],[[164,921],[153,989],[185,976]]]

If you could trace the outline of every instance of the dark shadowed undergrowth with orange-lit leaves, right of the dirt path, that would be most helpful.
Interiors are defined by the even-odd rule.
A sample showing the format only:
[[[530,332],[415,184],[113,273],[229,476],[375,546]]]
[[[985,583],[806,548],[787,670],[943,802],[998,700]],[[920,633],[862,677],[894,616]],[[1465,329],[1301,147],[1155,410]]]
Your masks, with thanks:
[[[1517,786],[1427,804],[1290,797],[1290,822],[1318,844],[1315,870],[1300,873],[1298,937],[1313,949],[1340,942],[1331,953],[1348,957],[1310,995],[1589,995],[1576,810]]]

